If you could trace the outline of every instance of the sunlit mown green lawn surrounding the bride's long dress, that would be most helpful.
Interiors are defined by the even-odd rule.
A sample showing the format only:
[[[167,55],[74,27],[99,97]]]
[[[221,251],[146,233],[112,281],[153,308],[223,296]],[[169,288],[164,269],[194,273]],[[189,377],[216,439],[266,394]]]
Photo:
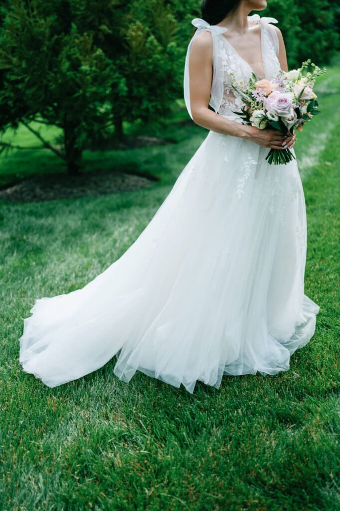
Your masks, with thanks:
[[[340,100],[338,69],[323,78],[329,77],[335,91],[320,94],[324,119],[310,123],[296,146],[298,161],[307,161],[325,122],[327,136],[303,172],[305,293],[320,305],[317,329],[290,369],[276,376],[225,376],[220,389],[198,382],[189,394],[139,371],[129,384],[121,382],[113,359],[50,389],[18,362],[22,320],[34,299],[82,287],[124,253],[204,130],[177,128],[176,146],[93,155],[103,165],[111,157],[112,165],[138,159],[161,177],[151,189],[0,204],[0,509],[340,509],[340,120],[332,108]]]

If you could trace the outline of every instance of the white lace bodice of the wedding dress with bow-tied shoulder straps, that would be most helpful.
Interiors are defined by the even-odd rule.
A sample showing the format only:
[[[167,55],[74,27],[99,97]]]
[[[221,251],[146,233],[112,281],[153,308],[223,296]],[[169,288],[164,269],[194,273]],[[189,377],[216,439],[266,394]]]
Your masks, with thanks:
[[[264,78],[270,80],[280,70],[278,37],[274,27],[270,25],[270,23],[277,23],[277,20],[267,17],[260,18],[258,14],[248,16],[248,19],[260,24],[261,58]],[[239,94],[232,88],[233,79],[230,73],[234,74],[238,82],[243,81],[247,85],[249,78],[252,76],[253,69],[248,62],[241,58],[233,45],[225,37],[226,28],[209,25],[200,18],[193,19],[192,25],[197,27],[198,30],[189,43],[184,68],[184,99],[190,117],[192,117],[189,94],[189,53],[191,42],[203,30],[208,30],[211,32],[213,40],[213,79],[209,104],[216,112],[228,117],[228,119],[241,122],[239,116],[233,113],[233,111],[240,111],[242,101]]]

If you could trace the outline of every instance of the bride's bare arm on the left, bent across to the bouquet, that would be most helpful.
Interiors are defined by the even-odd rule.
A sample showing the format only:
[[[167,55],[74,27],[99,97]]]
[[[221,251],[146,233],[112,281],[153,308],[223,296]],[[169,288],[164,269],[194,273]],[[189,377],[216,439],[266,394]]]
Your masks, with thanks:
[[[203,31],[192,41],[189,57],[190,108],[193,122],[217,133],[282,149],[285,136],[276,129],[260,130],[226,119],[208,108],[212,82],[212,37]]]

